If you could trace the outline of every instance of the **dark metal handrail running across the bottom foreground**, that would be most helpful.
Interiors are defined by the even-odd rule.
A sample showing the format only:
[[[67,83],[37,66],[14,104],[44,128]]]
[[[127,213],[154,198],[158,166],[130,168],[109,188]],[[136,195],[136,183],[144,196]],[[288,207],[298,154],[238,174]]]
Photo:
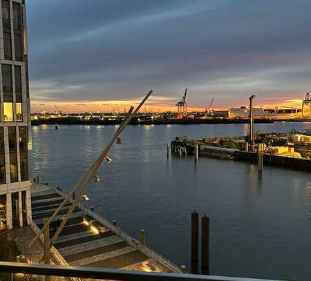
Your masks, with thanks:
[[[101,269],[95,267],[64,267],[57,265],[23,264],[0,262],[0,273],[24,273],[31,275],[53,275],[61,277],[94,278],[123,281],[273,281],[256,278],[236,278],[213,275],[182,273],[127,271],[122,269]],[[276,281],[276,280],[274,280]]]

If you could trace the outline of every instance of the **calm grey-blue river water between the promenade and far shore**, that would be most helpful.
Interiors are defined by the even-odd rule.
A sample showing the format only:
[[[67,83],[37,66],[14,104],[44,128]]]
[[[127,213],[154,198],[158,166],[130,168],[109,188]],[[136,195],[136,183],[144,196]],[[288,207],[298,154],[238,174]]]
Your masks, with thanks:
[[[255,124],[262,133],[311,128],[311,122]],[[117,126],[34,126],[31,171],[70,191]],[[88,206],[178,265],[190,269],[190,214],[210,217],[210,273],[288,280],[311,279],[311,171],[232,160],[167,158],[177,135],[245,135],[247,125],[129,126],[113,159],[88,189]]]

